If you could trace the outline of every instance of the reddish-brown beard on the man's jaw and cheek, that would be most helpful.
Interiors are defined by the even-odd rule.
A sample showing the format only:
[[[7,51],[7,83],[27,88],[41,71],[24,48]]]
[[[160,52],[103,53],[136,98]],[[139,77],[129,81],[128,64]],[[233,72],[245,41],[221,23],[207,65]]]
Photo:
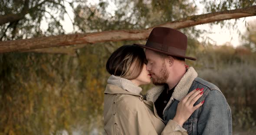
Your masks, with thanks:
[[[152,77],[152,82],[154,85],[166,84],[169,73],[167,72],[165,62],[163,63],[162,67],[163,68],[160,71],[160,77],[156,76],[156,74],[154,74],[154,78]]]

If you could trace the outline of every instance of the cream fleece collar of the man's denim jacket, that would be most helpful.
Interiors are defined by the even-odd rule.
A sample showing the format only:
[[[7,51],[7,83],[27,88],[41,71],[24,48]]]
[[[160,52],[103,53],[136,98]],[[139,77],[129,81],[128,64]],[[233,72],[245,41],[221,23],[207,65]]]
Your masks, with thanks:
[[[187,72],[181,78],[180,82],[174,88],[174,92],[172,93],[171,99],[176,99],[181,101],[181,99],[187,95],[194,79],[197,77],[197,72],[193,67],[189,67]],[[152,89],[148,90],[146,99],[152,102],[155,102],[160,94],[163,92],[164,86],[155,86]],[[170,101],[169,101],[170,102]],[[168,104],[167,104],[168,106]]]

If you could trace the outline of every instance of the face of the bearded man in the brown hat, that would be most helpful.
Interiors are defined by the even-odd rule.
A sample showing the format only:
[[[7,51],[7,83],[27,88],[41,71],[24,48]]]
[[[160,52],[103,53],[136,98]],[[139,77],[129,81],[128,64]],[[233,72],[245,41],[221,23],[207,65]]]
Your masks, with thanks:
[[[147,70],[152,76],[152,82],[155,85],[165,84],[169,77],[164,58],[149,49],[145,50],[148,60]]]

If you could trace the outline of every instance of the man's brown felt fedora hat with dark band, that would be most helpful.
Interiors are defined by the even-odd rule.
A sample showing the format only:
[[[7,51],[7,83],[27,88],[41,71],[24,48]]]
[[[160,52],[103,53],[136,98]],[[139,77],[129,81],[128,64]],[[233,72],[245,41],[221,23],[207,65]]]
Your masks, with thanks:
[[[180,31],[166,27],[155,27],[150,35],[146,45],[134,44],[142,48],[158,51],[166,55],[196,60],[196,58],[187,57],[187,36]]]

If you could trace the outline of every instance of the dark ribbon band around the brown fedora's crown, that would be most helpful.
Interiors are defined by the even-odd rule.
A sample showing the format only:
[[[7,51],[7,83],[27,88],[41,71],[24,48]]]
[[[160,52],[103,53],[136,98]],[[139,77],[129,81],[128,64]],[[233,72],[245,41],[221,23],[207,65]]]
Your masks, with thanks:
[[[186,55],[186,50],[175,48],[172,46],[164,46],[164,45],[156,43],[156,42],[147,41],[145,46],[150,47],[150,48],[155,48],[155,49],[158,49],[161,51],[167,51],[167,52],[170,52],[175,55],[183,55],[183,56]]]

